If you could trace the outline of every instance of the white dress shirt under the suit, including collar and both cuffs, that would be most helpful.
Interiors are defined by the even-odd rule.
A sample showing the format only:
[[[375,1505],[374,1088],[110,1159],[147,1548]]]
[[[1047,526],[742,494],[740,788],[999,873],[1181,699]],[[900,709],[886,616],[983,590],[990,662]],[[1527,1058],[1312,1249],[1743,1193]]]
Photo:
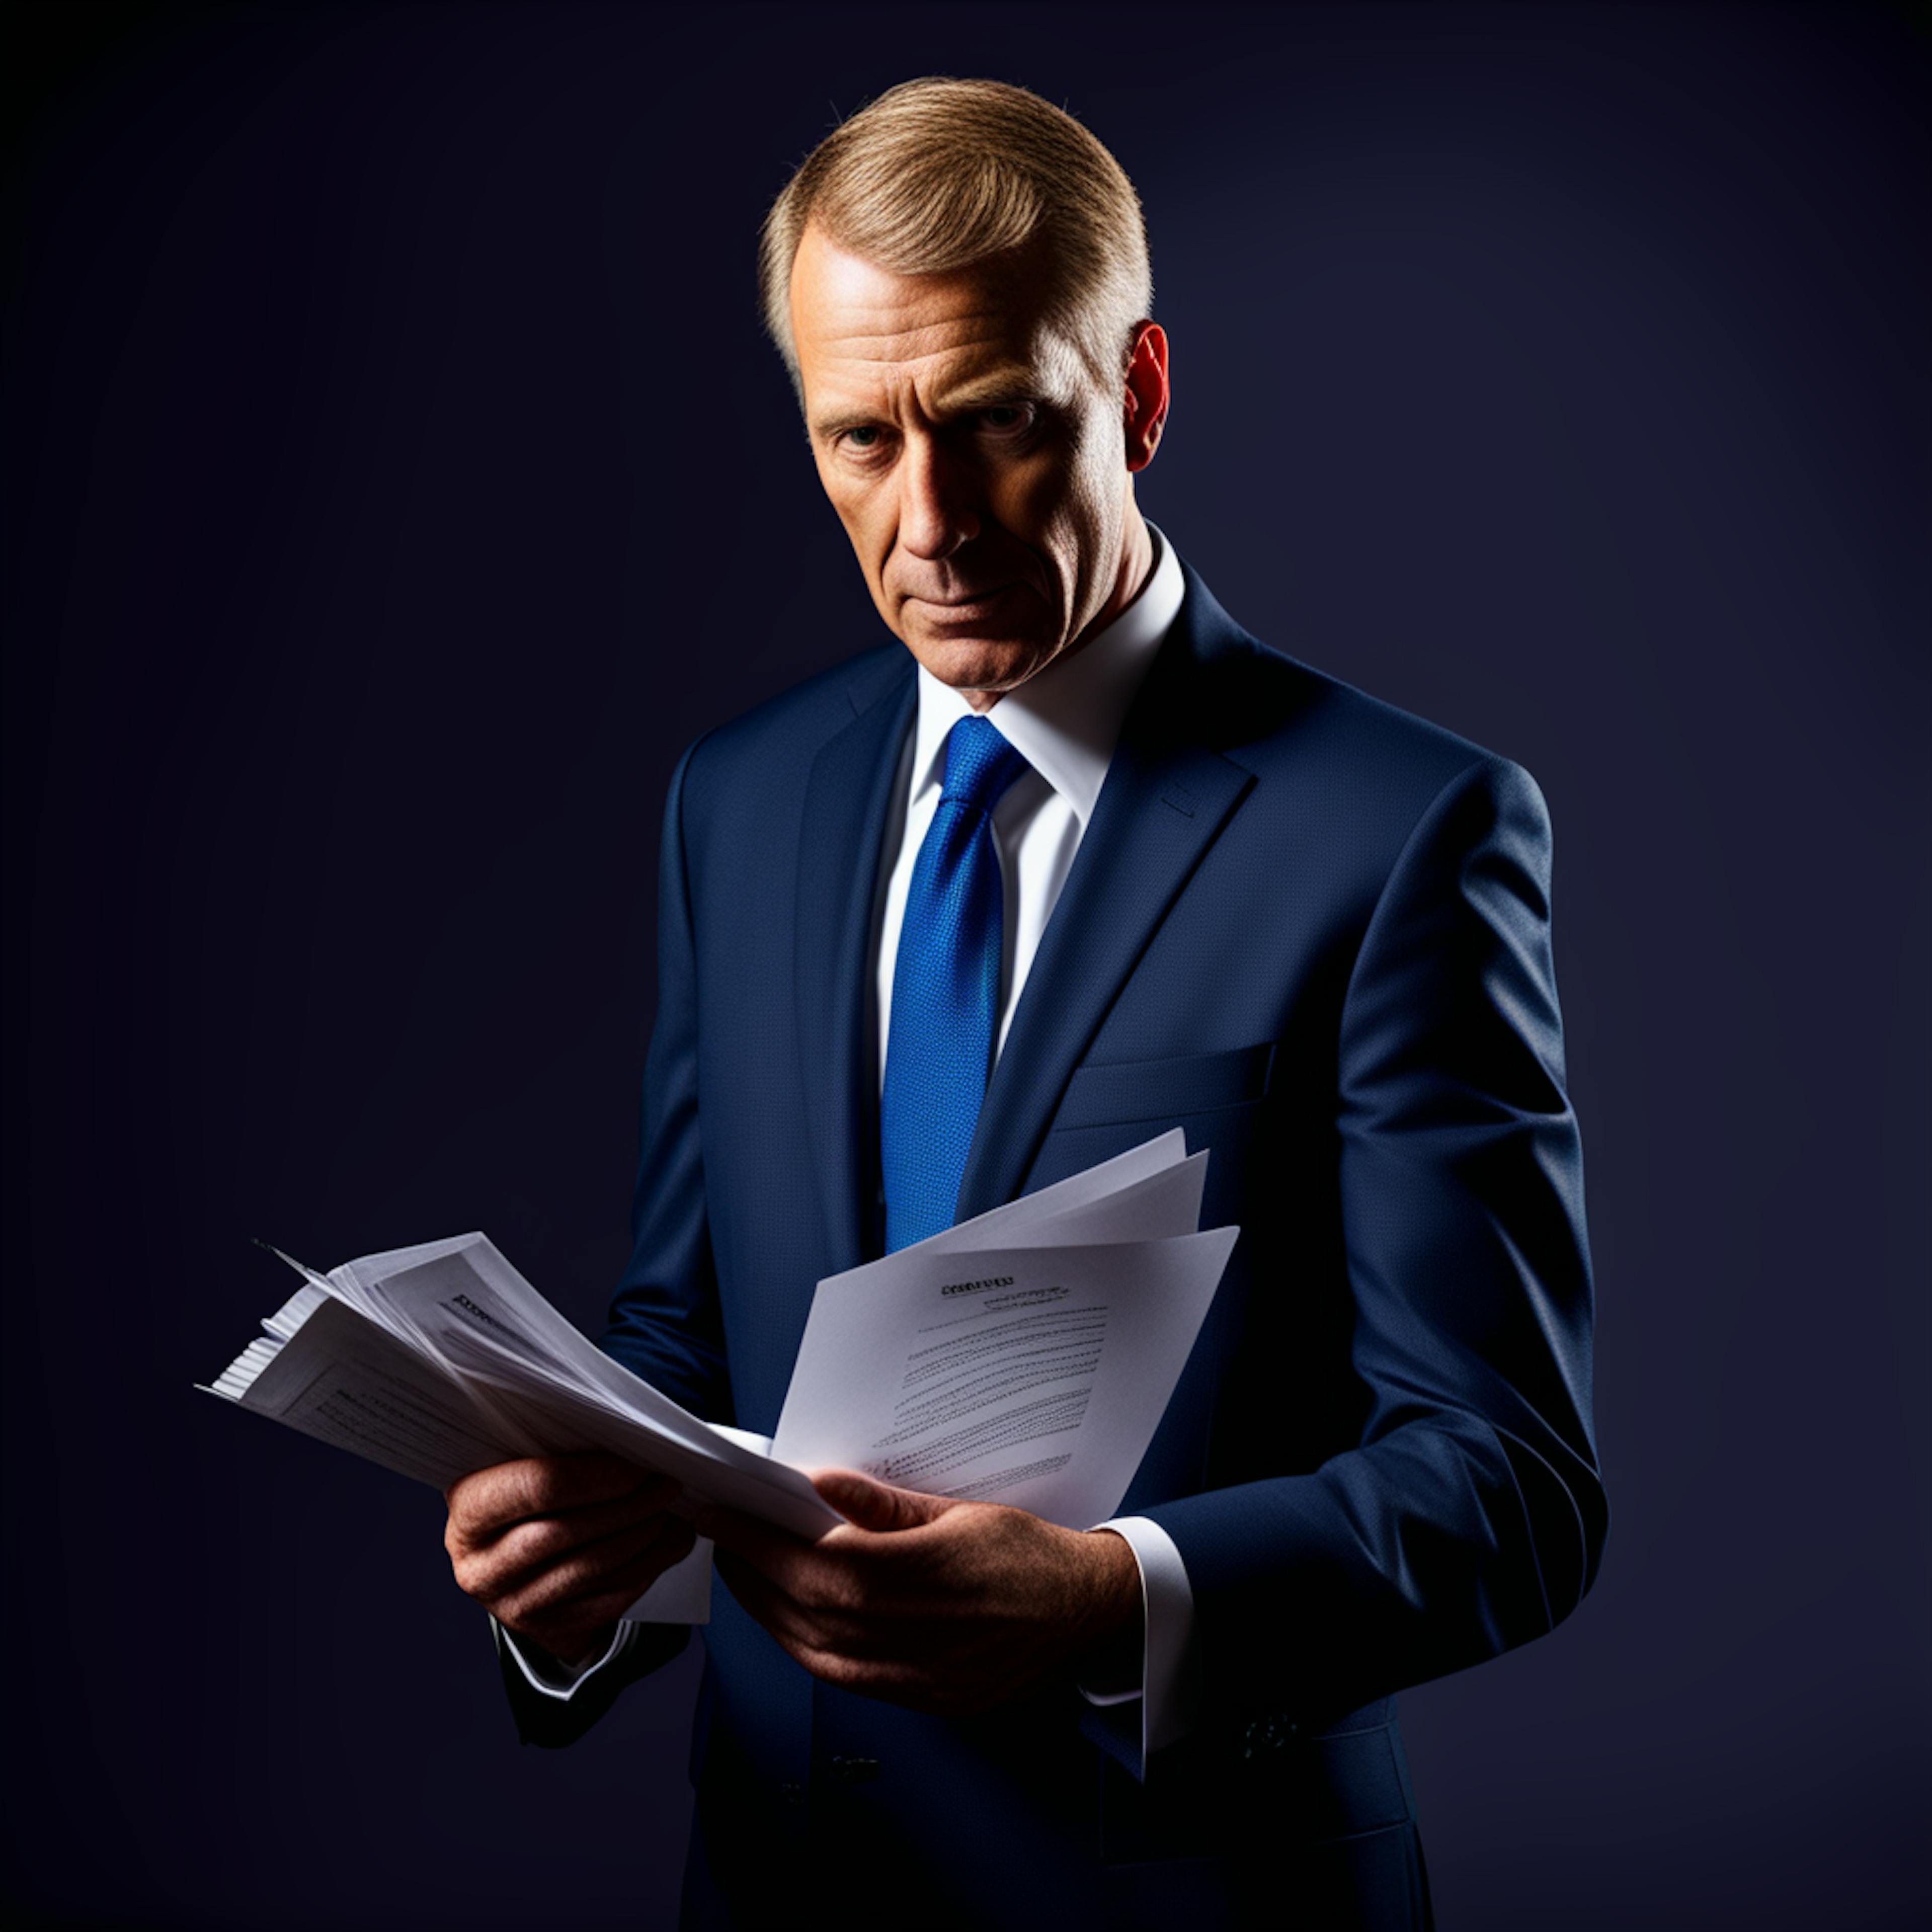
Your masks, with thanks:
[[[981,713],[1030,767],[993,808],[993,844],[999,852],[1007,910],[999,1022],[993,1034],[995,1059],[1005,1047],[1014,1009],[1026,989],[1039,935],[1053,918],[1080,838],[1094,817],[1099,788],[1121,738],[1121,724],[1180,611],[1184,589],[1180,560],[1151,524],[1148,529],[1153,537],[1153,568],[1140,595],[1078,651],[1055,659],[1018,690],[1007,692],[991,711]],[[918,717],[900,753],[898,784],[879,852],[881,889],[873,908],[873,993],[881,1080],[891,1051],[893,970],[898,964],[898,933],[906,918],[912,867],[939,810],[947,734],[960,719],[974,715],[966,699],[941,684],[923,665],[918,680]],[[1130,1756],[1136,1756],[1144,1770],[1148,1752],[1175,1743],[1194,1719],[1188,1667],[1194,1596],[1180,1551],[1157,1522],[1146,1517],[1115,1517],[1097,1528],[1119,1532],[1140,1565],[1146,1642],[1138,1685],[1115,1690],[1082,1685],[1082,1694],[1094,1704],[1140,1706],[1140,1748]],[[585,1660],[576,1669],[558,1669],[554,1663],[539,1667],[516,1642],[510,1644],[510,1652],[533,1689],[547,1696],[570,1696],[593,1671],[628,1648],[632,1631],[634,1625],[618,1625],[618,1634],[605,1656]]]

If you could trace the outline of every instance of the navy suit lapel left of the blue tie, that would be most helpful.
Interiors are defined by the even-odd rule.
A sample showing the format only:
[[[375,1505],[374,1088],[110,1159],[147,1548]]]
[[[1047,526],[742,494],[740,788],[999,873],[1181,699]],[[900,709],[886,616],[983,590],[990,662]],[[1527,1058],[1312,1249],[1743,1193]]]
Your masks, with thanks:
[[[831,1236],[827,1273],[864,1262],[877,1194],[875,1047],[869,1012],[871,904],[898,750],[912,721],[916,682],[900,653],[883,674],[848,686],[852,723],[811,761],[798,837],[798,912],[792,987],[811,1159]],[[871,1182],[871,1184],[867,1184]]]

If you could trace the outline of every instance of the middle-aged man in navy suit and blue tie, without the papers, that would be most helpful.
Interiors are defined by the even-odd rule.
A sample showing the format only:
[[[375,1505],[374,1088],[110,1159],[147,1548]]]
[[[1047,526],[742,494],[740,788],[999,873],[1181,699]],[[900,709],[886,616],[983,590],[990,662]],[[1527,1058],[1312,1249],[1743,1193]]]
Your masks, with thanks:
[[[686,1922],[1426,1924],[1391,1692],[1565,1617],[1605,1522],[1542,798],[1142,520],[1167,338],[1061,110],[893,89],[763,286],[898,641],[672,777],[603,1345],[769,1432],[821,1277],[1171,1126],[1242,1235],[1113,1524],[850,1472],[817,1544],[699,1517]],[[450,1492],[526,1739],[682,1644],[618,1625],[674,1501],[603,1457]]]

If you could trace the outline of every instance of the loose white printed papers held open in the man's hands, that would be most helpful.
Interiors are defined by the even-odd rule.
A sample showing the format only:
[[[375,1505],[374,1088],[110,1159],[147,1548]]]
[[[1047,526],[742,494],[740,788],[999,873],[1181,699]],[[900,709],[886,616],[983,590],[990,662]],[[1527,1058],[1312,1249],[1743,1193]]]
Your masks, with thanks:
[[[804,1474],[858,1468],[1070,1528],[1111,1517],[1238,1229],[1196,1233],[1208,1155],[1177,1128],[817,1285],[777,1435],[703,1422],[603,1354],[483,1235],[315,1273],[209,1393],[446,1490],[605,1449],[703,1503],[815,1538]],[[630,1609],[703,1623],[699,1548]]]

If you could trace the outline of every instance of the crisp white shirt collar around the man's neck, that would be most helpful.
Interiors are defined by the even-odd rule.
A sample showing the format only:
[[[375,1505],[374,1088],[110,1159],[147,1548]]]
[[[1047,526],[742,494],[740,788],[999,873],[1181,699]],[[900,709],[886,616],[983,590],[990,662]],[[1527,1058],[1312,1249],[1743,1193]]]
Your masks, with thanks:
[[[1148,535],[1153,537],[1153,568],[1140,595],[1078,651],[1063,653],[985,713],[1007,744],[1072,806],[1082,827],[1094,815],[1128,705],[1186,589],[1175,547],[1153,524]],[[974,717],[972,705],[920,665],[908,802],[939,784],[947,732],[966,717]]]

